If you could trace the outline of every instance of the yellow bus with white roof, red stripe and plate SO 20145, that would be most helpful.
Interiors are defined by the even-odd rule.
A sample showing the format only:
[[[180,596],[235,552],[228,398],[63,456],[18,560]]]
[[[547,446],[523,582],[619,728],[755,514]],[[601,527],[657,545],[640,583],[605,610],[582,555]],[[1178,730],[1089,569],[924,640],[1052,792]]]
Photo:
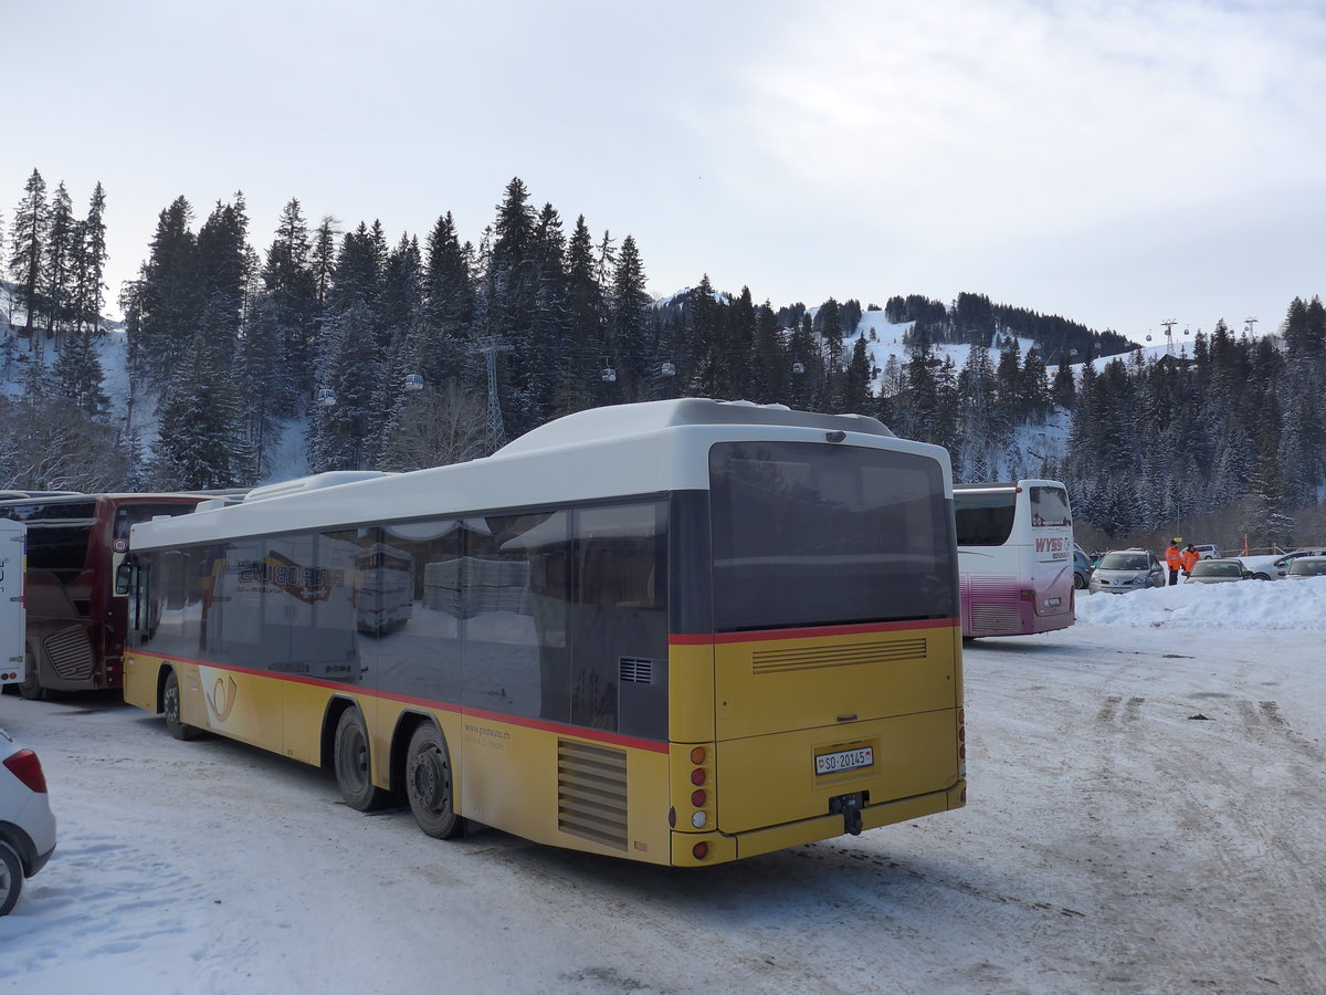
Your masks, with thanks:
[[[622,405],[213,504],[134,527],[125,698],[357,809],[697,866],[965,804],[948,455],[873,418]]]

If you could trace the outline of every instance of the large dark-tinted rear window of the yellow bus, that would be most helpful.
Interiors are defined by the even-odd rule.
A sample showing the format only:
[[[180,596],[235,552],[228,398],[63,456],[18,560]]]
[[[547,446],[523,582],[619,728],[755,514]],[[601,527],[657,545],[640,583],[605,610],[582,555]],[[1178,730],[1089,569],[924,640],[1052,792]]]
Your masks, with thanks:
[[[939,464],[830,443],[709,450],[717,631],[951,618]]]

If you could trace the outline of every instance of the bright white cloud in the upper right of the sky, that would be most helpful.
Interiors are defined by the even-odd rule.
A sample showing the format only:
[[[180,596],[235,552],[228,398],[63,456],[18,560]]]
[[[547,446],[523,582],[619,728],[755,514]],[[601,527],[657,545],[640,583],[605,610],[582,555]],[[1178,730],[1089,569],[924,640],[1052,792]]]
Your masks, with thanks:
[[[817,5],[727,123],[910,239],[1083,231],[1310,178],[1323,25],[1294,3]]]

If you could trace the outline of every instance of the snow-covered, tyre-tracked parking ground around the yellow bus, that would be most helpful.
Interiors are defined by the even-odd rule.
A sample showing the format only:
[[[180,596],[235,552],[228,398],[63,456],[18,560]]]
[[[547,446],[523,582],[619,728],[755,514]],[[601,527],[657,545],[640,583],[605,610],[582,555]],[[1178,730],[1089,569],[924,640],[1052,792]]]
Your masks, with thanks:
[[[0,991],[1326,991],[1326,580],[968,643],[971,796],[699,872],[346,808],[106,696],[0,699],[60,848]]]

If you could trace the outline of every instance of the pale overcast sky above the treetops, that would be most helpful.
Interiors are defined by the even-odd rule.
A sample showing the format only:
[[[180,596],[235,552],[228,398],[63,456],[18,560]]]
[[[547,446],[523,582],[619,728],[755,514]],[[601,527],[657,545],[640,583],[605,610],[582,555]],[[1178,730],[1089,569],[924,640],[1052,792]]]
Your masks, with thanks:
[[[959,292],[1142,337],[1326,295],[1321,0],[0,0],[0,212],[176,196],[477,243],[512,176],[650,291]],[[115,309],[118,313],[118,308]]]

